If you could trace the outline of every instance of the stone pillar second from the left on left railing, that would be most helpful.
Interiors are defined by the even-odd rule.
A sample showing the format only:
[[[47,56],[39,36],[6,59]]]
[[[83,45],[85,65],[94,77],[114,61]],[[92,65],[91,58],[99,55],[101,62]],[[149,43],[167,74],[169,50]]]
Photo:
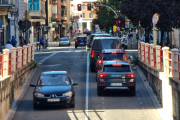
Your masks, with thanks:
[[[12,47],[11,48],[11,64],[13,65],[12,67],[11,67],[11,72],[14,72],[14,71],[16,71],[16,48],[15,47]]]

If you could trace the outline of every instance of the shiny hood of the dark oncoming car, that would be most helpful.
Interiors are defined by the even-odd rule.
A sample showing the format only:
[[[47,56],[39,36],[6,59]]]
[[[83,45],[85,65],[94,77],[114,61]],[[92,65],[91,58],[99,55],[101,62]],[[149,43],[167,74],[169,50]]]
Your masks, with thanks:
[[[65,93],[71,91],[71,85],[64,86],[37,86],[36,92],[40,93]]]

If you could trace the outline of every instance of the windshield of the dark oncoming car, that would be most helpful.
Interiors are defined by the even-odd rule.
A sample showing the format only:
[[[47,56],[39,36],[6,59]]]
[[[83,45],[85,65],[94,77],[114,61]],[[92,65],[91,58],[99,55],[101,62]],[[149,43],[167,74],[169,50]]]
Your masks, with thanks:
[[[70,85],[67,75],[43,75],[38,81],[38,86]]]

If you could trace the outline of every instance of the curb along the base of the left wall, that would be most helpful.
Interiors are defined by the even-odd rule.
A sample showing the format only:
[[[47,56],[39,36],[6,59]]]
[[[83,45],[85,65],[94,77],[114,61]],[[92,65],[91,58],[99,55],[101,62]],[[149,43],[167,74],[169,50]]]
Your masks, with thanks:
[[[38,68],[38,67],[37,67]],[[29,73],[28,77],[26,78],[25,82],[23,83],[20,91],[18,92],[16,98],[14,99],[12,105],[11,105],[11,108],[9,109],[9,111],[7,112],[6,114],[6,117],[4,118],[4,120],[12,120],[14,114],[16,113],[16,110],[19,106],[19,103],[21,102],[28,86],[29,86],[29,83],[34,75],[34,73],[36,72],[37,68],[35,69],[32,69],[31,72]]]

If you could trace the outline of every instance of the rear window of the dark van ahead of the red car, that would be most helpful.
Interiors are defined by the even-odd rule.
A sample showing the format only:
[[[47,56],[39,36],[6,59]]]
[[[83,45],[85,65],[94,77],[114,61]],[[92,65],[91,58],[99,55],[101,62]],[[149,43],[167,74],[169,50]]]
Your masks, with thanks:
[[[121,42],[118,39],[96,39],[93,42],[93,50],[120,49]]]

